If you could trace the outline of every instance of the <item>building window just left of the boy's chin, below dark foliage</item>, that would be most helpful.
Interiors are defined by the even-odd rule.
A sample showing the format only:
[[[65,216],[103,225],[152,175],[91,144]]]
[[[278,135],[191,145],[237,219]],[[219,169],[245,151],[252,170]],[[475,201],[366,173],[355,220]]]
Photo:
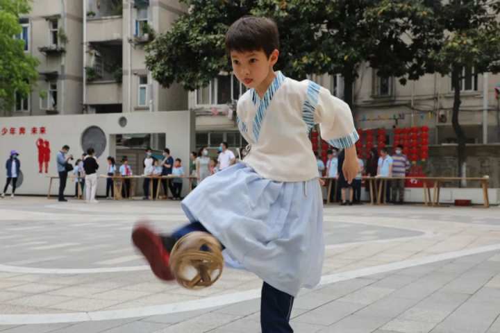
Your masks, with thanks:
[[[247,88],[233,74],[219,75],[203,88],[197,89],[197,105],[222,105],[238,100]]]

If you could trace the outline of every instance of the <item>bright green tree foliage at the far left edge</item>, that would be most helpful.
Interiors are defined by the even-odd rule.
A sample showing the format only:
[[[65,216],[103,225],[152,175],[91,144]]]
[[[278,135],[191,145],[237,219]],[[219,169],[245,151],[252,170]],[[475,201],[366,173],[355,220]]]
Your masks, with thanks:
[[[21,33],[19,15],[30,10],[28,0],[0,0],[0,110],[8,114],[16,93],[26,98],[35,85],[38,60],[24,53],[24,40],[14,36]]]

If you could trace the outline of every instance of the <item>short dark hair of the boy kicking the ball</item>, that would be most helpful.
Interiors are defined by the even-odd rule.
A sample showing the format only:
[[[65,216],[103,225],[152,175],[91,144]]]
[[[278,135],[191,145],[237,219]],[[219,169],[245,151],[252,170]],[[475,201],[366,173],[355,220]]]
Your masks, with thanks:
[[[226,52],[264,51],[267,58],[279,49],[278,26],[267,17],[244,16],[226,33]]]

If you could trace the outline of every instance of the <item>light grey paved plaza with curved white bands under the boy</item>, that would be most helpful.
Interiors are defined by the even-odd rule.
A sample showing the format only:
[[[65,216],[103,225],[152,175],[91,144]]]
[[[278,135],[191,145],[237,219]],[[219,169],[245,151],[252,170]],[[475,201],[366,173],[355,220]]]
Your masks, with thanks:
[[[321,284],[295,300],[295,332],[500,333],[500,208],[325,209]],[[260,332],[262,281],[226,268],[213,287],[157,280],[135,221],[172,230],[178,202],[0,200],[1,333]]]

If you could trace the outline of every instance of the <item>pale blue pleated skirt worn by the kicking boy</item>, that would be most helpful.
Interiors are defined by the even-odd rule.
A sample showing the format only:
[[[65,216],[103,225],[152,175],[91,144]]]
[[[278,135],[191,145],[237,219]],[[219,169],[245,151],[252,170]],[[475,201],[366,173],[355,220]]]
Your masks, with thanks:
[[[276,182],[238,163],[203,180],[182,207],[224,244],[226,262],[292,296],[319,283],[324,239],[317,179]]]

